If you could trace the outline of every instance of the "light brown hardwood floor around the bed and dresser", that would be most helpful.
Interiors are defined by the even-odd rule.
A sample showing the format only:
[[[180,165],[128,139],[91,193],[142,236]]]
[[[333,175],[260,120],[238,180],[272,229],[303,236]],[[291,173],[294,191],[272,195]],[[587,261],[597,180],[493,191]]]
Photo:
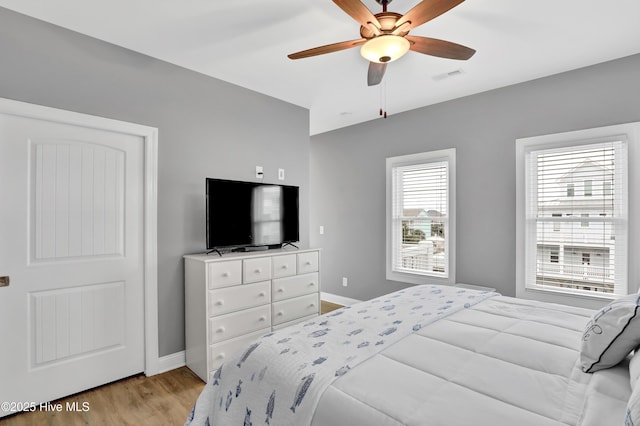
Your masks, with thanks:
[[[322,301],[321,313],[341,308]],[[36,410],[0,419],[2,426],[182,425],[204,387],[187,367],[157,376],[129,377],[67,398],[61,412]],[[67,404],[87,411],[67,411]]]

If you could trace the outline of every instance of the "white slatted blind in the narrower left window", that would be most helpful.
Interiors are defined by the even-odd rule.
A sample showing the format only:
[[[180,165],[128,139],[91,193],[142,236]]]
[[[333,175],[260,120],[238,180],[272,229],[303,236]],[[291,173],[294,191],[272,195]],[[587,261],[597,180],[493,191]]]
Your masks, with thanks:
[[[448,277],[448,161],[392,169],[392,269]]]

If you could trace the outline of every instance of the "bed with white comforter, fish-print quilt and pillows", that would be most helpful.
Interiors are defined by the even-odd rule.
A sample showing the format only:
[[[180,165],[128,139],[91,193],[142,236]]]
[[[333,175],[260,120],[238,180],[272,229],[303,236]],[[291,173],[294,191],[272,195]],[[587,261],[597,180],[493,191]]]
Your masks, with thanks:
[[[251,343],[186,424],[640,425],[637,311],[411,287]]]

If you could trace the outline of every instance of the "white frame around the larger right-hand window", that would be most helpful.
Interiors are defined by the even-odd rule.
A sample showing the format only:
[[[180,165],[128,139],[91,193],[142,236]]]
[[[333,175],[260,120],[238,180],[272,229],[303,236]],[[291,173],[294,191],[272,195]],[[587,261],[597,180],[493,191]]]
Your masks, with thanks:
[[[625,140],[627,143],[627,293],[638,291],[640,278],[640,122],[627,123],[594,129],[579,130],[552,135],[535,136],[516,140],[516,297],[553,303],[565,303],[586,308],[599,308],[619,295],[575,293],[562,289],[527,288],[527,219],[526,219],[526,155],[534,150],[580,146],[610,140]]]

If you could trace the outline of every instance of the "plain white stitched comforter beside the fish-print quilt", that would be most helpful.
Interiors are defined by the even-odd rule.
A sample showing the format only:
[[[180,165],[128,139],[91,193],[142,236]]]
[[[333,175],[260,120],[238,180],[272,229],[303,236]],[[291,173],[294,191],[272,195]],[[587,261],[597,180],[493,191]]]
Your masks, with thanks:
[[[594,374],[580,370],[591,313],[487,299],[334,381],[312,425],[623,425],[627,363]]]

